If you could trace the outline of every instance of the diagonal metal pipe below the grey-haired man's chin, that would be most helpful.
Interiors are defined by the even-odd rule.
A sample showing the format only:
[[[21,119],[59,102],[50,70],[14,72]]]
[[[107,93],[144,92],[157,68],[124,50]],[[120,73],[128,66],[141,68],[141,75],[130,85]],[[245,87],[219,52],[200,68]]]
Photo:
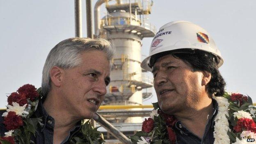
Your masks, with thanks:
[[[103,117],[101,117],[101,115],[99,115],[98,113],[94,114],[93,119],[98,124],[103,126],[103,128],[105,128],[109,133],[111,133],[111,135],[113,135],[115,138],[119,139],[122,143],[124,143],[124,144],[132,144],[131,140],[128,139],[128,137],[123,135],[123,133],[121,133],[119,130],[117,130],[117,128],[112,126],[112,124],[110,124],[107,120],[105,120]]]

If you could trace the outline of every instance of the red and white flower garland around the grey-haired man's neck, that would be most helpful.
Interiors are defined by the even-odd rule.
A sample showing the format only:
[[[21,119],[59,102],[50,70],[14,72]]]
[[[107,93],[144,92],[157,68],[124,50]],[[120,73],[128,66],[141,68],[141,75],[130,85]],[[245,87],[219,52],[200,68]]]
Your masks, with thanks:
[[[41,98],[41,88],[36,89],[33,85],[23,85],[17,92],[11,93],[7,98],[7,110],[2,114],[5,128],[8,130],[4,137],[0,137],[0,144],[30,144],[31,135],[35,136],[38,125],[43,125],[41,118],[32,115],[37,110]],[[89,121],[81,121],[81,129],[70,139],[71,144],[89,143],[103,144],[102,134],[93,128]]]

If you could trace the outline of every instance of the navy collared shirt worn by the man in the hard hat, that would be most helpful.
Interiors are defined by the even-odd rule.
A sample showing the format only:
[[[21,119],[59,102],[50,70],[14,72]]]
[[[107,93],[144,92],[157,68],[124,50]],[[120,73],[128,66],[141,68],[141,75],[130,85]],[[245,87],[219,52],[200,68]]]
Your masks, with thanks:
[[[213,144],[214,137],[214,125],[215,125],[215,117],[218,113],[218,103],[215,99],[213,100],[213,115],[209,117],[206,129],[203,134],[203,138],[201,139],[190,130],[188,130],[181,121],[177,121],[174,126],[174,131],[176,134],[176,144]]]

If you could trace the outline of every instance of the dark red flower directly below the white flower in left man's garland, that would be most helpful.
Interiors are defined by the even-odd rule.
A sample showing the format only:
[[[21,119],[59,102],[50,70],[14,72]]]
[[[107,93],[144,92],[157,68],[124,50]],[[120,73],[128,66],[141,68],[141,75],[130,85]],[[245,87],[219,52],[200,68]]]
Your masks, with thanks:
[[[16,115],[16,112],[8,112],[3,122],[7,130],[14,130],[23,125],[22,117]]]

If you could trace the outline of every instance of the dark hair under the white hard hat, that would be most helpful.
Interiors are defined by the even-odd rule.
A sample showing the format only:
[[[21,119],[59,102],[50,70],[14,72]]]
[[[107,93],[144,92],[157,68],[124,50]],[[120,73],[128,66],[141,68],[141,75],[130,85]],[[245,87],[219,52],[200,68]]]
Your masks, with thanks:
[[[151,57],[151,66],[155,63],[155,61],[164,55],[173,55],[176,58],[183,60],[183,62],[192,66],[193,71],[207,71],[211,74],[210,82],[206,85],[206,90],[209,96],[213,94],[215,96],[222,96],[224,94],[224,87],[226,82],[222,78],[222,75],[219,73],[217,66],[217,58],[215,55],[202,51],[202,50],[188,50],[183,51],[185,53],[181,53],[181,51],[174,53],[165,52],[159,53]]]

